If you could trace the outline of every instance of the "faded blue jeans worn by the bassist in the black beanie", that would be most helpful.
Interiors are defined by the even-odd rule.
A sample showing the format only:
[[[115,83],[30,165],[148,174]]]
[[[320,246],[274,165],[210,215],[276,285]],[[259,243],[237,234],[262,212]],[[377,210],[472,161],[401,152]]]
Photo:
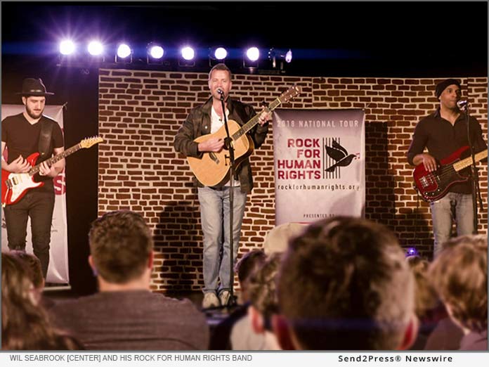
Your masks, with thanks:
[[[433,255],[436,257],[442,250],[443,243],[450,239],[453,219],[457,222],[457,236],[474,232],[474,204],[471,194],[448,193],[440,200],[431,202],[430,206],[435,235]],[[455,208],[455,218],[452,206]]]

